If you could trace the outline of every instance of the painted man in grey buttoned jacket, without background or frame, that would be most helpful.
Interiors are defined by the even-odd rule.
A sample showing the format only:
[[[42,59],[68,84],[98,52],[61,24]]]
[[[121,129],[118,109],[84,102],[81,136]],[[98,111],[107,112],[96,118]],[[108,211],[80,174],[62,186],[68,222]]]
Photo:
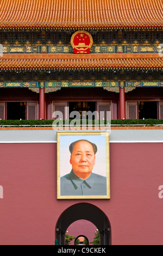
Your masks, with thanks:
[[[60,179],[61,196],[106,196],[106,177],[92,172],[96,144],[81,139],[70,144],[72,170]]]

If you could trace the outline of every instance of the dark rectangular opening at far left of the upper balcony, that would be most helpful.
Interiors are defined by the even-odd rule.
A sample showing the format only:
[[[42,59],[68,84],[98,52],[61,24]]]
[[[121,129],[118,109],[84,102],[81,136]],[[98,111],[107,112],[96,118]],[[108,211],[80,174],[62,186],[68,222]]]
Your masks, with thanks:
[[[7,119],[26,119],[26,102],[7,102]]]

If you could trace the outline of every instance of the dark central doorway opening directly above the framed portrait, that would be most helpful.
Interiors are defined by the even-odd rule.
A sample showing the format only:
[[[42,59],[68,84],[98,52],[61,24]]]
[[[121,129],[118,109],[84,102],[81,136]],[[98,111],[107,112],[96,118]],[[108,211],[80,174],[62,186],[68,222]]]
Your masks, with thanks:
[[[80,118],[82,118],[82,112],[83,112],[83,115],[86,115],[86,112],[88,111],[91,111],[92,113],[96,111],[96,102],[95,101],[71,101],[69,102],[69,115],[72,111],[78,111],[80,113]],[[76,118],[76,117],[73,117],[73,118]],[[94,115],[93,115],[93,119],[95,119]]]

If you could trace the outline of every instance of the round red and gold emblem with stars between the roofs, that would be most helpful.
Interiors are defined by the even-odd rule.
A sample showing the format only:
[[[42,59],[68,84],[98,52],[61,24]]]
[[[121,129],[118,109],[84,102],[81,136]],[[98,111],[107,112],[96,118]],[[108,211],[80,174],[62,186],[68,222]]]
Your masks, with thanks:
[[[77,31],[71,36],[71,45],[74,53],[90,53],[93,39],[87,31]]]

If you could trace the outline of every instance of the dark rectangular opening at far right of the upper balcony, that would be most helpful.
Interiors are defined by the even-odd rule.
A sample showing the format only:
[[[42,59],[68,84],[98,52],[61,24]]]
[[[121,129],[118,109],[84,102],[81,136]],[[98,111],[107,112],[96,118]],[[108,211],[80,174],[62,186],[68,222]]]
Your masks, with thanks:
[[[156,101],[139,101],[139,119],[157,119],[158,108]]]

